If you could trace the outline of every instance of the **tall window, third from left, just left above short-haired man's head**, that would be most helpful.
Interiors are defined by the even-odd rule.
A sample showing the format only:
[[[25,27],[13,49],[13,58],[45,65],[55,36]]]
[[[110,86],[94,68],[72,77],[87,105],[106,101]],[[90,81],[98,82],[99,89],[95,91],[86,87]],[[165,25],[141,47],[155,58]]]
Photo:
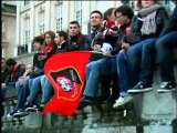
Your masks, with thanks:
[[[63,4],[60,3],[56,6],[56,21],[55,21],[55,28],[56,31],[62,30],[62,24],[63,24]]]

